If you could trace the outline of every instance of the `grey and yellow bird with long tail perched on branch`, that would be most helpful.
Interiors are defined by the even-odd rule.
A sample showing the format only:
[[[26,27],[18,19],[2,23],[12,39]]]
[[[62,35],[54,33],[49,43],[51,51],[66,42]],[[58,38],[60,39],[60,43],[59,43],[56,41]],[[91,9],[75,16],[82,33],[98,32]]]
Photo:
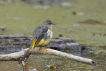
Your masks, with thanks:
[[[53,37],[52,25],[55,24],[52,23],[51,20],[47,19],[34,29],[30,47],[23,55],[23,57],[19,60],[19,64],[24,61],[30,50],[34,49],[37,46],[45,46],[51,41]]]

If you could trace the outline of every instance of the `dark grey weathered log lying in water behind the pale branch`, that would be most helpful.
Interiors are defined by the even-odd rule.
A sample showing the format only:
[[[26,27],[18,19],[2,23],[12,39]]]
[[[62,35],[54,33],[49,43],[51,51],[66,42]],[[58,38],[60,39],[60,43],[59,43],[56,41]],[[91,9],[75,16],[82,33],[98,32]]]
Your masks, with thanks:
[[[14,52],[21,48],[28,48],[31,43],[31,36],[27,35],[0,35],[0,51]],[[71,38],[54,37],[47,47],[63,52],[73,54],[82,54],[87,52],[87,47],[75,43]]]

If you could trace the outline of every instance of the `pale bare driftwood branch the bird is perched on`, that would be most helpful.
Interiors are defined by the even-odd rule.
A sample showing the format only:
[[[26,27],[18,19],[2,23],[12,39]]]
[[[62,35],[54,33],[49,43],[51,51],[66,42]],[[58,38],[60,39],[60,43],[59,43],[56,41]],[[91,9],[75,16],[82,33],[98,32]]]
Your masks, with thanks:
[[[22,55],[24,55],[24,53],[27,50],[28,50],[28,48],[24,49],[22,51],[19,51],[19,52],[0,55],[0,61],[5,61],[5,60],[6,61],[15,61],[15,60],[17,61],[22,57]],[[31,53],[31,54],[35,54],[35,53],[53,54],[53,55],[61,56],[61,57],[64,57],[64,58],[68,58],[68,59],[84,62],[84,63],[87,63],[87,64],[95,65],[95,62],[92,59],[88,59],[88,58],[84,58],[84,57],[80,57],[80,56],[75,56],[75,55],[72,55],[72,54],[53,50],[53,49],[50,49],[50,48],[36,47],[35,49],[29,51],[29,53]]]

